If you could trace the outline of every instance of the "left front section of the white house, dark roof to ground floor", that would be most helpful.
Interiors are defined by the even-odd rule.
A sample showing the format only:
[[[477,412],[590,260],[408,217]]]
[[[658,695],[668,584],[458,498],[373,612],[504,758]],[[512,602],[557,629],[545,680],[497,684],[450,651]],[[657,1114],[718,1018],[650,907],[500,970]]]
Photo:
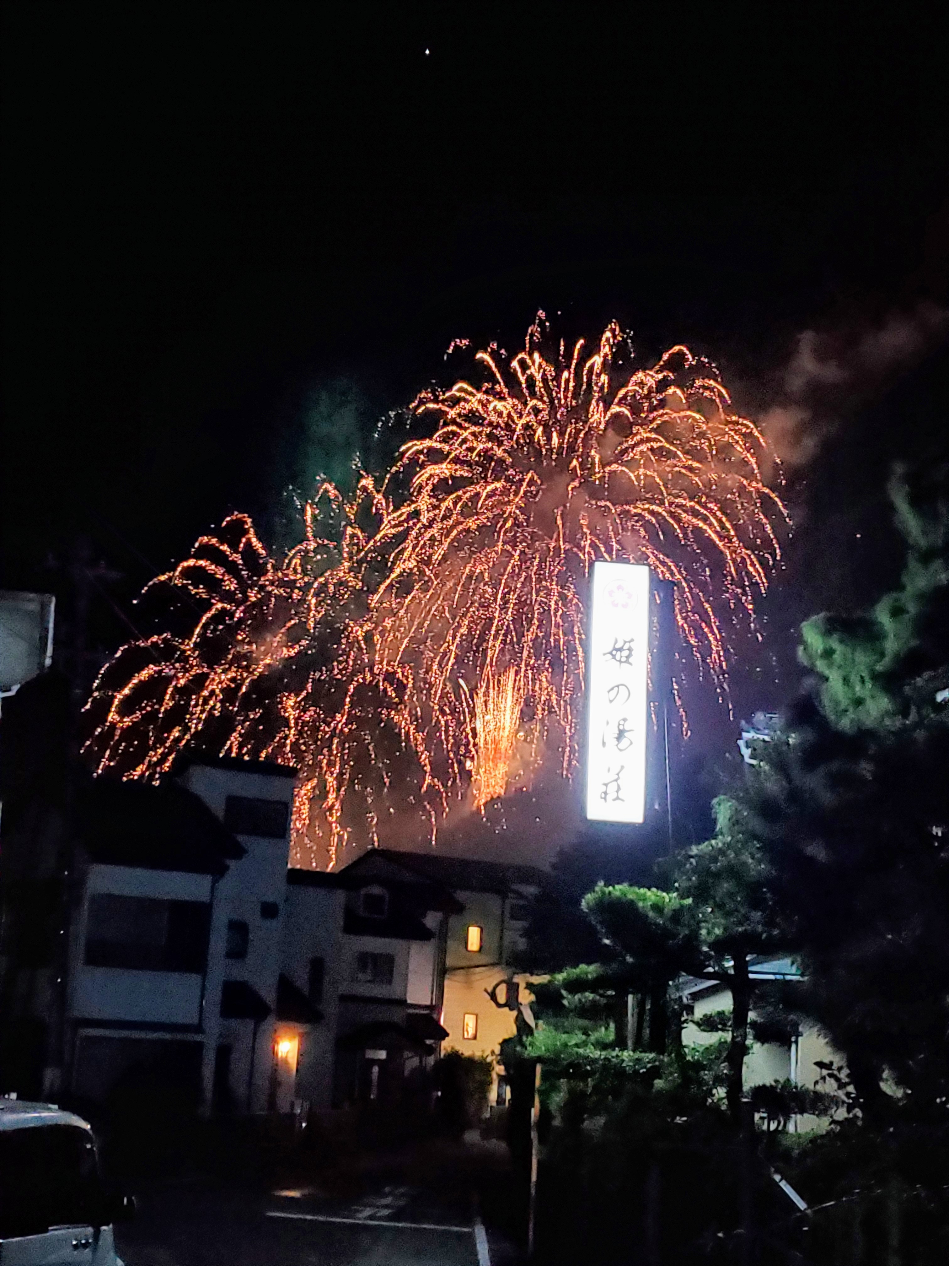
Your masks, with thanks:
[[[161,1072],[199,1094],[215,896],[244,849],[175,782],[92,781],[77,823],[68,1089],[105,1099],[132,1075]]]

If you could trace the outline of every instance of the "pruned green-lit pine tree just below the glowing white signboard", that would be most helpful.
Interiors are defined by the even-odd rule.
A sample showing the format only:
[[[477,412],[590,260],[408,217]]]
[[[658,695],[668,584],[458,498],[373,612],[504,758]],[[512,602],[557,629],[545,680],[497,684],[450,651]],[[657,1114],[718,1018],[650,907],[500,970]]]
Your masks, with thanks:
[[[663,1058],[681,1047],[673,982],[683,975],[720,980],[733,995],[725,1087],[738,1120],[754,993],[750,962],[774,947],[778,933],[768,866],[745,809],[726,796],[714,809],[715,836],[673,862],[669,890],[600,882],[583,898],[588,931],[574,933],[573,946],[587,951],[587,962],[540,987],[548,1032],[534,1048],[542,1053],[543,1046],[562,1067],[583,1060],[585,1067],[597,1061],[611,1071],[625,1067],[602,1053],[607,1046]]]

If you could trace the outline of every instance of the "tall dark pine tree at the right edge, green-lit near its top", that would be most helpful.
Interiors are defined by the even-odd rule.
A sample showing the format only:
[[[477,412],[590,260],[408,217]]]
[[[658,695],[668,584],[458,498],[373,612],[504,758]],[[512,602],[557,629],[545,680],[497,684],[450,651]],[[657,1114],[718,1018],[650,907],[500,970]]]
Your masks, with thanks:
[[[744,804],[773,874],[803,1001],[845,1056],[865,1113],[895,1086],[949,1094],[949,492],[891,484],[907,562],[865,615],[803,627],[819,679],[767,744]]]

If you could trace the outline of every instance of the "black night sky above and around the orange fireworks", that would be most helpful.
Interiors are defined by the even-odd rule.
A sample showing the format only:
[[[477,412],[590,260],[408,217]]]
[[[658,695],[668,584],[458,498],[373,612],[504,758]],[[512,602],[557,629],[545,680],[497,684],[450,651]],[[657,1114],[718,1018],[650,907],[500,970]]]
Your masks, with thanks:
[[[812,330],[839,372],[778,437],[797,530],[735,687],[779,704],[800,619],[898,573],[890,463],[946,447],[949,49],[830,8],[8,8],[0,584],[86,536],[114,648],[229,509],[278,532],[452,338],[538,308],[687,342],[758,415]]]

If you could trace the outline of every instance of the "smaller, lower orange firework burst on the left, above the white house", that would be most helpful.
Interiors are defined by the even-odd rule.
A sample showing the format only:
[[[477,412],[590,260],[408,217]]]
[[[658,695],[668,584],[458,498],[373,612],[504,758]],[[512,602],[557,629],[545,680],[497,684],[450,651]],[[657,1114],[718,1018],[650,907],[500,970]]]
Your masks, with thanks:
[[[282,560],[235,514],[152,581],[146,594],[185,632],[129,643],[102,670],[86,708],[97,772],[156,780],[187,747],[292,765],[294,853],[313,865],[333,863],[354,829],[378,842],[397,767],[402,819],[431,834],[445,801],[409,672],[377,668],[366,618],[366,546],[383,515],[371,480],[350,501],[324,485]]]

